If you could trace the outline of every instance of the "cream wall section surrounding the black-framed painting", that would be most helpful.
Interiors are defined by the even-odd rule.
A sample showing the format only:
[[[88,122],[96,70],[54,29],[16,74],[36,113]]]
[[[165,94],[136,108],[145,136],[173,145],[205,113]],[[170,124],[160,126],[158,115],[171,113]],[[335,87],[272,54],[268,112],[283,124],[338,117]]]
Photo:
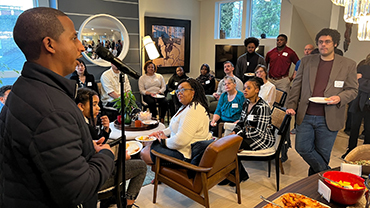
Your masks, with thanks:
[[[188,76],[199,75],[199,48],[200,48],[200,2],[198,0],[140,0],[140,37],[144,36],[144,16],[163,17],[173,19],[191,20],[190,41],[190,73]],[[144,59],[142,59],[144,61]],[[144,65],[144,64],[142,64]],[[170,74],[164,75],[168,80]]]

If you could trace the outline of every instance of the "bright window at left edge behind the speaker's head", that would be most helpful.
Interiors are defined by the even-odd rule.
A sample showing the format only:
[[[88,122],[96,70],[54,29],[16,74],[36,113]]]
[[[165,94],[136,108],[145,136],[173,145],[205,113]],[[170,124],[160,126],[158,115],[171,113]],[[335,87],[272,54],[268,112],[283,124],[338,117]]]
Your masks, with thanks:
[[[18,16],[34,7],[33,0],[0,0],[0,86],[12,85],[26,61],[13,39],[13,28]]]

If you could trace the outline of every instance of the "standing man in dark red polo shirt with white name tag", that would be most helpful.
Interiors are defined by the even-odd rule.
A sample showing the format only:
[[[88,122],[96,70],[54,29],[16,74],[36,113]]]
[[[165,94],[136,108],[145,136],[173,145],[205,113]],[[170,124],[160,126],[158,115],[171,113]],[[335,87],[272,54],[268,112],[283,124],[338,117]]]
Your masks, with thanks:
[[[276,39],[276,48],[266,54],[266,63],[269,64],[269,81],[277,89],[284,92],[289,91],[290,81],[289,69],[292,62],[294,64],[299,60],[297,54],[289,48],[286,43],[288,37],[280,34]]]

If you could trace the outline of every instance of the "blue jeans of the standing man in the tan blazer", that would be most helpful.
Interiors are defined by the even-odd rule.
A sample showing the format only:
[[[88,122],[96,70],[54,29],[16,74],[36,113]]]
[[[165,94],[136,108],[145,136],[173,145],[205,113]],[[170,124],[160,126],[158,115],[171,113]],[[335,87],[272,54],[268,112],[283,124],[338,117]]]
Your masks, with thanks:
[[[338,131],[330,131],[324,116],[305,115],[297,125],[295,149],[310,165],[309,175],[328,170]]]

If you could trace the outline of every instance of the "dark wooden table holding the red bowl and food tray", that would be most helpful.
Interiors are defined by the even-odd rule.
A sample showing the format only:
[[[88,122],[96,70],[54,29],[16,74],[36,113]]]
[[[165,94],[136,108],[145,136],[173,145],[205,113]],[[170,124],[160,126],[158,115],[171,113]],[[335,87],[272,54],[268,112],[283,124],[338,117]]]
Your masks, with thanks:
[[[339,170],[339,168],[336,168],[335,170]],[[319,176],[317,174],[311,175],[307,178],[304,178],[300,181],[297,181],[280,191],[274,193],[273,195],[269,196],[267,199],[273,201],[274,199],[278,198],[279,196],[285,194],[285,193],[299,193],[303,194],[307,197],[310,197],[312,199],[315,199],[323,204],[329,205],[332,208],[340,208],[340,207],[347,207],[346,205],[337,204],[336,202],[327,202],[324,198],[321,198],[318,189],[318,180]],[[364,198],[364,197],[363,197]],[[361,199],[365,201],[364,199]],[[264,207],[267,203],[262,201],[259,203],[255,208],[261,208]],[[363,205],[360,205],[357,203],[356,205],[349,206],[349,207],[364,207]]]

